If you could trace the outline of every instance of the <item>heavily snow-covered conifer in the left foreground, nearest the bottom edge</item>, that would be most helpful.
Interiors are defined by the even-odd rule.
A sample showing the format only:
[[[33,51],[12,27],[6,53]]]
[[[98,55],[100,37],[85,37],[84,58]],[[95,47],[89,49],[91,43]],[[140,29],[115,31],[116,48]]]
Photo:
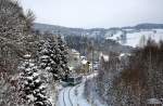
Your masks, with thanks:
[[[40,80],[37,66],[33,59],[26,59],[20,67],[21,97],[29,106],[52,106],[46,96],[46,87]]]

